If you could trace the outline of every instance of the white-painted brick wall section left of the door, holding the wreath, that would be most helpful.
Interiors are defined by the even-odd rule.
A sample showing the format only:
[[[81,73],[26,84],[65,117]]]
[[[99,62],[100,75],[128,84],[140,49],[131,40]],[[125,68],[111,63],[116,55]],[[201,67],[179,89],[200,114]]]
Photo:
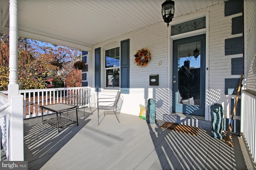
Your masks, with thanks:
[[[93,46],[92,56],[94,56],[95,48],[102,47],[111,41],[130,39],[130,94],[122,94],[124,97],[124,103],[121,110],[122,113],[139,115],[139,105],[142,104],[147,106],[149,98],[154,98],[156,100],[157,116],[162,115],[162,113],[166,113],[166,110],[168,110],[167,94],[169,94],[170,98],[170,92],[168,93],[167,89],[167,31],[168,29],[166,24],[161,22]],[[134,63],[134,55],[138,49],[142,49],[143,47],[148,48],[152,57],[147,66],[139,67]],[[160,60],[162,60],[162,64],[158,65],[158,61]],[[91,62],[91,70],[94,70],[94,59],[92,59]],[[159,74],[159,86],[149,85],[150,74]],[[92,82],[90,86],[94,87],[94,73],[92,73],[91,76]],[[112,93],[114,95],[116,91],[102,90],[99,97],[106,93]]]

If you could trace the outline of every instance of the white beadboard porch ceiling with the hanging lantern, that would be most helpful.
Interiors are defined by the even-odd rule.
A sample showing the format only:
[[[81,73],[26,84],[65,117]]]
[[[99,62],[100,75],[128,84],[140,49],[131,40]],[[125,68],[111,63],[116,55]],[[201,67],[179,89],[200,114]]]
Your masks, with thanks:
[[[164,22],[165,0],[18,0],[20,37],[89,51],[92,45],[148,25]],[[224,0],[174,0],[174,17]],[[9,30],[9,2],[0,0],[4,29]],[[166,29],[167,29],[167,24]]]

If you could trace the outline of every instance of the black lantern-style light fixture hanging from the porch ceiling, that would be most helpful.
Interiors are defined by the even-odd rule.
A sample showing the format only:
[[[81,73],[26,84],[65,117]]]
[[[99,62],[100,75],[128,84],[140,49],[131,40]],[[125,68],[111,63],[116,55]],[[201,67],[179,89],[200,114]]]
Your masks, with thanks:
[[[169,23],[172,21],[174,16],[174,1],[166,0],[164,3],[162,3],[162,16],[164,22],[167,23],[167,27],[169,27]]]

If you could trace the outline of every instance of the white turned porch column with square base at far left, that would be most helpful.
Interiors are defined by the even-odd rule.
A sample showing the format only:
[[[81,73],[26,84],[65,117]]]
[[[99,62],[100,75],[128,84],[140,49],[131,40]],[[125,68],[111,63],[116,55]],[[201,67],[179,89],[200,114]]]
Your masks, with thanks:
[[[9,84],[8,98],[10,105],[9,127],[9,158],[11,161],[24,160],[23,140],[23,96],[19,94],[18,85],[18,0],[10,0],[10,57],[9,57]]]

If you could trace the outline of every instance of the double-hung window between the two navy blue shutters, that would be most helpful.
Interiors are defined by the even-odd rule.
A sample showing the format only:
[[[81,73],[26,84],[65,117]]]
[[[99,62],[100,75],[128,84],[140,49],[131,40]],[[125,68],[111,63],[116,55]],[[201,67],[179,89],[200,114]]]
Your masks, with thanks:
[[[106,88],[120,88],[120,47],[105,51]]]

